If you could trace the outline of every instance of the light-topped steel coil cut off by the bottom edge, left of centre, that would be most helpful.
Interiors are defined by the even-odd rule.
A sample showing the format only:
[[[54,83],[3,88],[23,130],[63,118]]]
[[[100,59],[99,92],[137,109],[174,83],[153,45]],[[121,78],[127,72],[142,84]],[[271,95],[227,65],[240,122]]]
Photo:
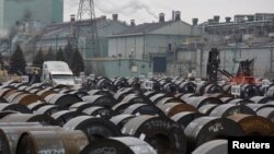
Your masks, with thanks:
[[[91,142],[80,154],[157,154],[147,142],[132,137]]]

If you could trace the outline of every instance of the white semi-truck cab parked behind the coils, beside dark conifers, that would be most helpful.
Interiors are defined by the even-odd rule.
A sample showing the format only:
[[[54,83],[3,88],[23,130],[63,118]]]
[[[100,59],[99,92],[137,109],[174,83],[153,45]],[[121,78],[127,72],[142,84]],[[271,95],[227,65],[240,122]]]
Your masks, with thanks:
[[[75,85],[73,73],[64,61],[45,61],[43,63],[42,81],[54,85]]]

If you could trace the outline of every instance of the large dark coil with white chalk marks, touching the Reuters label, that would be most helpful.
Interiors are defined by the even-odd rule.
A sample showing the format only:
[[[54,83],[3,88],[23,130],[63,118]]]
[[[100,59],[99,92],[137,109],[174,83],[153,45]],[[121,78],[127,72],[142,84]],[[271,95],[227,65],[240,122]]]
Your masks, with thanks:
[[[192,152],[203,143],[224,137],[243,137],[244,131],[233,120],[216,117],[201,117],[193,120],[184,130],[187,151]]]

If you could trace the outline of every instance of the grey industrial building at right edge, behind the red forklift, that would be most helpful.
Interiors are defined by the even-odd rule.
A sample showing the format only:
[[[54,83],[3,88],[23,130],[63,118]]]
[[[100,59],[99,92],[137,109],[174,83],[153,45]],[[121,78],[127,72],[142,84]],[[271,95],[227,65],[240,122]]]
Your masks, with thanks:
[[[255,76],[273,76],[274,14],[241,14],[233,19],[219,22],[220,16],[215,15],[199,24],[203,36],[176,48],[178,57],[183,59],[178,60],[175,72],[205,78],[208,51],[214,47],[220,51],[220,69],[232,72],[233,60],[254,59]]]

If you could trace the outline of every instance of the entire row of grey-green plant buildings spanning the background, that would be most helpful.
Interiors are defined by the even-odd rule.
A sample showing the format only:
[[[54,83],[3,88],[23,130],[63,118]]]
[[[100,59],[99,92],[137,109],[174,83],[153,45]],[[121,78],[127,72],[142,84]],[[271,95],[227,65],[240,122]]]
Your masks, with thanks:
[[[138,76],[155,74],[206,76],[208,51],[220,50],[220,66],[232,72],[237,59],[254,59],[256,76],[274,75],[274,14],[236,14],[220,22],[218,15],[198,23],[189,24],[181,20],[180,11],[172,16],[159,14],[159,21],[136,24],[121,21],[118,14],[112,17],[93,19],[99,50],[92,50],[94,39],[89,33],[90,20],[71,16],[62,22],[64,1],[60,0],[0,0],[0,29],[11,32],[10,52],[21,45],[28,62],[38,49],[57,51],[70,44],[77,44],[87,73],[114,76]],[[12,12],[11,12],[12,11]],[[182,14],[183,16],[183,14]],[[76,37],[77,31],[81,31]]]

